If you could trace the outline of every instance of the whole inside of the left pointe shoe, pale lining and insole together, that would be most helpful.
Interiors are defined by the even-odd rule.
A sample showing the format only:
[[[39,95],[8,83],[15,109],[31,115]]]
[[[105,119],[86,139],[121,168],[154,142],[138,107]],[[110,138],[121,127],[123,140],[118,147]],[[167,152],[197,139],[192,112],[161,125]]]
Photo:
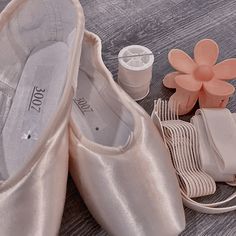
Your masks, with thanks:
[[[70,0],[28,0],[0,31],[0,181],[29,161],[57,109],[75,22]]]

